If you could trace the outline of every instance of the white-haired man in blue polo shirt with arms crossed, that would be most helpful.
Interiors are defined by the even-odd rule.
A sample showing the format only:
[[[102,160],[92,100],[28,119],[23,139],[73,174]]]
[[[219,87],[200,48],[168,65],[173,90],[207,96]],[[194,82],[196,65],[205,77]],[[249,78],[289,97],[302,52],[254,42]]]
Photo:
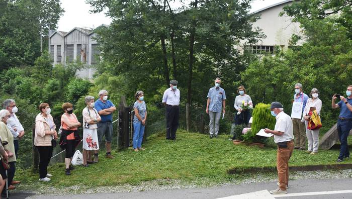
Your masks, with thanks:
[[[105,135],[105,157],[113,159],[114,156],[111,155],[111,142],[113,140],[113,113],[116,111],[116,107],[110,100],[108,100],[108,91],[99,91],[99,99],[95,102],[95,108],[102,118],[102,120],[98,123],[99,143],[102,141],[103,136]],[[99,150],[95,150],[94,162],[98,162],[98,152]]]

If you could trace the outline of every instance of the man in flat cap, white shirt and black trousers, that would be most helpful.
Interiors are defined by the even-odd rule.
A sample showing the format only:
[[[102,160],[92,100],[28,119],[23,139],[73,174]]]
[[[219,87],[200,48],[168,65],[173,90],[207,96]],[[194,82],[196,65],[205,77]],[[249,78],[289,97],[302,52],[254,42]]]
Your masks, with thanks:
[[[176,131],[179,127],[180,90],[177,84],[177,80],[171,80],[170,88],[167,88],[162,96],[162,103],[166,105],[166,140],[176,140]]]

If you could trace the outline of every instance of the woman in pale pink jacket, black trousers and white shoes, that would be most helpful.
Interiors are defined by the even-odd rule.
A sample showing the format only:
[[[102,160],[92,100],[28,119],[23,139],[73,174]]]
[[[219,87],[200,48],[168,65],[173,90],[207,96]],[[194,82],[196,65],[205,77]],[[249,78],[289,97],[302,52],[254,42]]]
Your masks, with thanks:
[[[50,181],[51,174],[47,168],[53,152],[52,140],[57,139],[56,125],[50,115],[50,107],[47,103],[39,105],[40,113],[35,119],[34,145],[39,152],[39,181]]]

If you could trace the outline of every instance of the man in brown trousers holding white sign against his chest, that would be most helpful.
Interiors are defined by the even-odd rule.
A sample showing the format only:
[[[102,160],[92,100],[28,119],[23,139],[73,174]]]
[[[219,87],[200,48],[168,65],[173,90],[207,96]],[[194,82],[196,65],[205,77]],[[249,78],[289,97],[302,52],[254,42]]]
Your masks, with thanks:
[[[309,97],[303,92],[302,84],[300,83],[295,84],[295,92],[291,113],[295,149],[305,150],[307,136],[305,121],[302,120],[302,116]]]

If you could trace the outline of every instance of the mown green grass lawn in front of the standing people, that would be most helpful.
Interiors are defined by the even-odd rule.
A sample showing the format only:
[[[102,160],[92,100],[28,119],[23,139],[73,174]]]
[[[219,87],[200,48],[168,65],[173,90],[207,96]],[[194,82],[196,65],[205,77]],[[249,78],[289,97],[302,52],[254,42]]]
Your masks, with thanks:
[[[63,163],[50,166],[48,171],[54,176],[48,184],[54,188],[64,188],[74,185],[139,184],[156,179],[226,182],[238,177],[227,174],[230,168],[275,166],[276,146],[273,142],[267,148],[260,149],[256,146],[234,145],[228,138],[229,135],[220,135],[219,138],[209,139],[208,135],[180,130],[177,141],[168,141],[163,133],[154,134],[143,144],[145,151],[113,151],[115,159],[101,155],[98,164],[87,168],[76,166],[70,176],[64,174]],[[295,150],[290,165],[335,164],[337,156],[337,149],[320,150],[317,155]],[[48,186],[47,183],[39,182],[38,173],[32,173],[30,168],[19,169],[15,178],[22,180],[22,184],[30,185],[33,191]]]

